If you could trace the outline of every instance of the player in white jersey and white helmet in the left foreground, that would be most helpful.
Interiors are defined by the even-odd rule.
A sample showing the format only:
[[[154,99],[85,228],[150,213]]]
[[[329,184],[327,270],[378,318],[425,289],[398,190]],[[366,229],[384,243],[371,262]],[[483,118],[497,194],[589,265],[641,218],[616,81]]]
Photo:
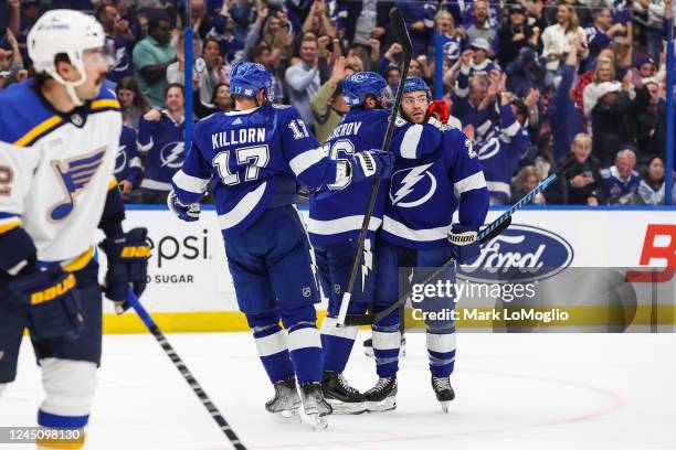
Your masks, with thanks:
[[[46,12],[28,35],[36,78],[0,94],[0,394],[17,375],[28,328],[45,392],[38,424],[55,430],[84,429],[94,398],[97,227],[106,234],[106,296],[124,309],[127,290],[140,294],[146,283],[146,229],[122,228],[113,176],[122,115],[115,94],[102,89],[104,39],[91,17]]]

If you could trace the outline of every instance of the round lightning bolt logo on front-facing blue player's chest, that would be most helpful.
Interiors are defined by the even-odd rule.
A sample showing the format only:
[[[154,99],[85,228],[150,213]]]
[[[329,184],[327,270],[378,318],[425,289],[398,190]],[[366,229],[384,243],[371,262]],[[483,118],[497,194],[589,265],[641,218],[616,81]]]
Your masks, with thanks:
[[[415,207],[422,205],[436,192],[436,179],[424,164],[402,169],[392,175],[390,183],[390,201],[397,207]]]

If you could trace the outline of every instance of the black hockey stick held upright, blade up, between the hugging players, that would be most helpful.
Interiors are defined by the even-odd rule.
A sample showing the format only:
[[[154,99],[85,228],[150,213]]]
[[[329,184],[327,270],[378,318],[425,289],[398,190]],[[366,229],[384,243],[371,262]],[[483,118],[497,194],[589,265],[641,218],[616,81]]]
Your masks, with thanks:
[[[390,11],[390,25],[394,31],[397,36],[397,41],[401,44],[403,49],[403,65],[401,67],[401,79],[399,81],[399,85],[397,86],[397,97],[394,98],[394,105],[392,106],[392,113],[390,114],[390,121],[388,124],[388,130],[385,132],[385,137],[382,143],[382,149],[388,150],[390,148],[390,141],[392,140],[392,133],[394,132],[394,121],[397,120],[397,114],[399,111],[399,105],[401,104],[401,97],[403,96],[403,85],[406,81],[406,76],[409,74],[409,64],[411,63],[411,56],[413,54],[413,45],[411,44],[411,38],[409,36],[409,31],[406,30],[406,23],[403,20],[403,15],[397,8],[392,8]],[[380,189],[380,179],[376,179],[373,181],[373,185],[371,188],[371,196],[369,197],[369,207],[367,208],[367,213],[363,216],[363,222],[361,224],[361,231],[359,232],[359,242],[357,243],[357,254],[355,255],[355,260],[352,262],[352,271],[350,272],[350,281],[348,283],[348,288],[342,294],[342,301],[340,302],[340,311],[338,312],[338,326],[341,326],[345,323],[345,318],[347,315],[347,310],[350,304],[350,297],[352,296],[352,290],[355,289],[355,281],[357,279],[357,272],[359,271],[359,265],[361,264],[361,254],[363,253],[363,243],[366,240],[367,234],[369,233],[369,223],[371,222],[371,215],[373,214],[373,207],[376,207],[376,201],[378,200],[378,190]]]

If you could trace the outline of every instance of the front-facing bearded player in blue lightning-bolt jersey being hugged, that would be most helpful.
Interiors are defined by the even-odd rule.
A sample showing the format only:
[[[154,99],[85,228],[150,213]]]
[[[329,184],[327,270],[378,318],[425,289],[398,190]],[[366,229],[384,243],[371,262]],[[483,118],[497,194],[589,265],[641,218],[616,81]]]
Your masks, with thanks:
[[[403,89],[398,124],[436,122],[444,132],[435,151],[415,160],[398,159],[394,165],[378,237],[376,302],[379,304],[392,304],[404,291],[405,288],[400,289],[404,281],[400,279],[402,268],[414,267],[415,282],[451,257],[458,264],[473,262],[479,255],[477,231],[488,210],[488,191],[472,143],[461,130],[441,124],[448,117],[445,104],[440,100],[430,105],[430,89],[421,78],[408,78]],[[460,222],[452,224],[456,208]],[[454,282],[454,269],[441,277]],[[453,297],[426,297],[416,307],[425,312],[443,311],[454,307],[453,300]],[[380,323],[382,331],[373,332],[380,379],[367,392],[372,410],[389,410],[397,405],[398,321],[399,313],[390,314]],[[446,411],[447,403],[455,396],[450,383],[455,361],[455,324],[452,320],[425,320],[425,325],[432,387]]]

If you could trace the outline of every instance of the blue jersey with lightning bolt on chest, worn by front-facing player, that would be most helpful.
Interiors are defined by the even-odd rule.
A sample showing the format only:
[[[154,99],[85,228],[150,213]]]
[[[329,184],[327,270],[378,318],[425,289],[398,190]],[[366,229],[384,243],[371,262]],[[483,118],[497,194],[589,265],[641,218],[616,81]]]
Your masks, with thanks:
[[[488,191],[472,142],[458,129],[421,159],[397,159],[390,179],[382,238],[408,248],[447,245],[453,213],[478,228],[488,211]]]

